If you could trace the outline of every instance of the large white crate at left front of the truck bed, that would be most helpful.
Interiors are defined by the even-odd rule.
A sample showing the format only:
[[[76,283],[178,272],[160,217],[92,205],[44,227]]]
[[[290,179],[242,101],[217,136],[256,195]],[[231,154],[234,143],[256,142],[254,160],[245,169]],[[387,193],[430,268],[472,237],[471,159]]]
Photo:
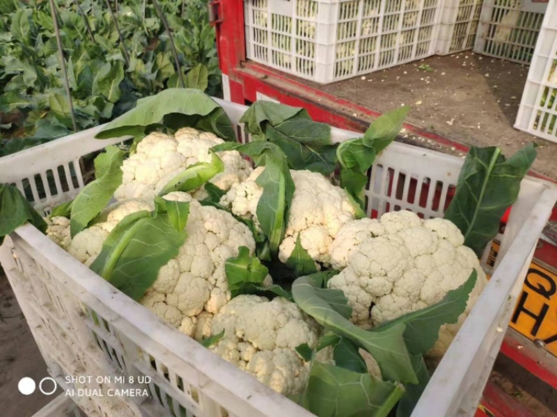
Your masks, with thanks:
[[[247,58],[318,83],[435,52],[440,0],[246,0]]]

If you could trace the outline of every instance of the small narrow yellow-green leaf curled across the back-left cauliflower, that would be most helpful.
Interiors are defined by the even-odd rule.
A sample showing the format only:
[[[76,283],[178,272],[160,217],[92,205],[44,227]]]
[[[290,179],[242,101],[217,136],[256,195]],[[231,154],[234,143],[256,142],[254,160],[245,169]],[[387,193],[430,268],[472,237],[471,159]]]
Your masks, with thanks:
[[[198,162],[188,166],[176,175],[159,192],[159,196],[164,196],[173,191],[187,192],[197,189],[222,171],[224,171],[224,164],[217,154],[213,153],[211,162]]]

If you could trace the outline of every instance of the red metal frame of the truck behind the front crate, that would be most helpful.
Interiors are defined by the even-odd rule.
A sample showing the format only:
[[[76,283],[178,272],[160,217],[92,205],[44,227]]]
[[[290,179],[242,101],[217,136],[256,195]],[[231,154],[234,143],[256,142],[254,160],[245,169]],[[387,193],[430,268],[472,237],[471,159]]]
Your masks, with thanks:
[[[219,1],[220,3],[220,1]],[[344,100],[316,88],[316,85],[290,77],[283,72],[267,68],[264,65],[246,61],[246,44],[244,33],[244,1],[223,0],[219,4],[219,20],[216,26],[217,48],[219,50],[220,68],[223,74],[228,76],[230,84],[230,100],[240,104],[247,104],[257,100],[257,93],[267,95],[284,104],[307,109],[313,120],[327,123],[342,129],[355,132],[365,132],[371,120],[377,118],[381,113],[367,109],[359,104]],[[313,85],[312,85],[313,84]],[[405,123],[407,132],[430,139],[434,143],[445,148],[455,148],[460,152],[467,152],[469,147],[458,143],[421,127]],[[544,175],[530,172],[537,178],[556,182]],[[506,216],[505,216],[506,217]],[[557,210],[551,216],[557,219]],[[505,220],[505,218],[504,218]],[[547,247],[543,253],[536,251],[536,258],[543,258],[549,265],[557,267],[557,250]],[[549,261],[549,262],[548,262]],[[501,352],[519,363],[523,368],[536,375],[542,381],[557,388],[557,373],[540,365],[535,360],[535,347],[529,343],[526,347],[519,348],[515,340],[505,338],[501,346]],[[534,354],[531,354],[534,352]],[[496,417],[530,417],[528,410],[521,404],[510,398],[503,391],[487,384],[484,391],[483,406],[487,412],[478,409],[478,416]],[[489,413],[489,411],[492,413]]]

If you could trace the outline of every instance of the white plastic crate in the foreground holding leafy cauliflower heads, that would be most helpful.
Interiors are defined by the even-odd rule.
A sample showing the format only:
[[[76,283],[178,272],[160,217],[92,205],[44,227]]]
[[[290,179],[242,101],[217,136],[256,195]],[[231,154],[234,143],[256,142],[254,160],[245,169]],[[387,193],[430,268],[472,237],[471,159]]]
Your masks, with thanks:
[[[237,124],[246,107],[219,103]],[[116,140],[93,139],[99,127],[0,159],[2,182],[34,190],[30,199],[43,212],[77,190],[68,162]],[[238,126],[242,141],[249,139]],[[354,132],[332,129],[335,141]],[[463,160],[439,152],[393,143],[377,158],[366,190],[368,214],[409,209],[439,217],[455,187]],[[61,172],[58,171],[61,166]],[[75,164],[78,180],[79,163]],[[36,178],[54,175],[56,189],[41,192]],[[411,179],[416,192],[410,192]],[[429,185],[427,191],[422,184]],[[440,199],[435,189],[441,190]],[[425,203],[421,198],[422,194]],[[499,352],[512,306],[530,265],[538,235],[557,200],[552,184],[533,178],[522,182],[517,203],[501,238],[495,272],[448,352],[434,372],[413,416],[472,416],[489,370]],[[56,203],[54,203],[56,202]],[[81,265],[36,228],[18,228],[0,248],[2,266],[30,324],[50,374],[63,388],[66,376],[150,377],[148,395],[130,398],[74,397],[90,416],[296,416],[308,411],[263,386],[185,334],[168,326],[90,269]],[[87,386],[87,384],[82,384]],[[96,383],[91,388],[99,388]],[[102,384],[101,384],[102,385]],[[115,385],[115,384],[112,384]],[[118,384],[116,384],[118,385]],[[109,384],[111,386],[111,384]],[[102,386],[100,387],[102,389]]]

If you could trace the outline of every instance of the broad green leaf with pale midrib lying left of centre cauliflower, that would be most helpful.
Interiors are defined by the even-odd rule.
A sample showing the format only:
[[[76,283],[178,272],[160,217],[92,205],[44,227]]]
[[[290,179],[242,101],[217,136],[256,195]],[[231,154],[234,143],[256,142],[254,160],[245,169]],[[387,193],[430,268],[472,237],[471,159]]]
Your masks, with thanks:
[[[187,218],[189,203],[177,207]],[[165,212],[129,214],[113,228],[91,269],[132,299],[141,299],[185,242],[185,230],[173,223]]]

